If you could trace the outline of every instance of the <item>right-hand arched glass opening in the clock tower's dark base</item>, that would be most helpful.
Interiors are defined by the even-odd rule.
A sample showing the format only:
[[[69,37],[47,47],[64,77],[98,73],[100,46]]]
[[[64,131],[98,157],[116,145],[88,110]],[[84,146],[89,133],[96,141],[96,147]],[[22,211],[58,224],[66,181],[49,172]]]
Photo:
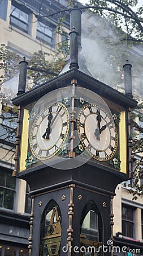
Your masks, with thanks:
[[[81,214],[81,255],[102,255],[102,219],[93,201],[89,201]]]

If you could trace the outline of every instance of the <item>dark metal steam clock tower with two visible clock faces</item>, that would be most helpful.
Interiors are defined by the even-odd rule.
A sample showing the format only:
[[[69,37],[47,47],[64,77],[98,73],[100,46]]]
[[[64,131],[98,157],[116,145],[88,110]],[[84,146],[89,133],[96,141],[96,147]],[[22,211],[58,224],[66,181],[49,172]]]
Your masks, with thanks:
[[[32,196],[29,256],[111,255],[112,200],[131,172],[129,112],[136,101],[80,68],[81,10],[70,13],[70,67],[25,92],[21,61],[13,99],[14,175]]]

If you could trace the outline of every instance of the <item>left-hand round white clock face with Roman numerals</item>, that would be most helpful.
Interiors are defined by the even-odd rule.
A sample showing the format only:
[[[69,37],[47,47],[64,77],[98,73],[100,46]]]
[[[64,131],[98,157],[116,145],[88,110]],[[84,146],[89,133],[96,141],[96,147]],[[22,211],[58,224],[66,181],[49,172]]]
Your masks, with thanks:
[[[69,113],[62,103],[45,106],[34,119],[29,144],[31,152],[39,160],[53,157],[66,141],[69,130]]]

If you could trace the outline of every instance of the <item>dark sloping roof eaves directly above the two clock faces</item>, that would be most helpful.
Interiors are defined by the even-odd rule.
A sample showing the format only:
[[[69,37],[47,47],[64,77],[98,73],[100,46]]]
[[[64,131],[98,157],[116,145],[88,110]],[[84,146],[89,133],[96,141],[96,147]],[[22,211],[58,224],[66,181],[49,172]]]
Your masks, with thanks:
[[[91,77],[76,68],[72,68],[69,71],[62,73],[58,77],[44,82],[36,88],[20,94],[18,97],[13,98],[12,103],[17,106],[26,106],[31,104],[52,90],[70,85],[72,79],[76,79],[77,84],[83,88],[92,90],[99,96],[104,97],[107,100],[122,106],[123,108],[135,108],[137,105],[135,100],[128,98],[123,93],[118,92],[118,90],[111,88],[109,85],[94,79],[94,77]]]

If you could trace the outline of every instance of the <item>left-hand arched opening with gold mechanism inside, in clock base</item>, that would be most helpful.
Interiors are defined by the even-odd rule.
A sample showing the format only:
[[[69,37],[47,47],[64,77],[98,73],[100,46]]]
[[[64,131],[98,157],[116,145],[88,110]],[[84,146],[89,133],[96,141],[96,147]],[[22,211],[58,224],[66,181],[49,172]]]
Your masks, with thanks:
[[[41,221],[40,256],[59,256],[62,216],[58,204],[51,200]]]

